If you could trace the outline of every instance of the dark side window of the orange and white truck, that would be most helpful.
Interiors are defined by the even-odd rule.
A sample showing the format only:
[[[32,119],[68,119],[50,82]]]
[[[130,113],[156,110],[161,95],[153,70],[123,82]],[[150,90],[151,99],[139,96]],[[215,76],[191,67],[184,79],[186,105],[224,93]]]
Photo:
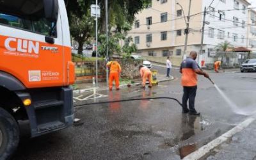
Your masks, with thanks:
[[[56,22],[49,22],[48,20],[46,20],[44,18],[43,3],[39,3],[38,5],[39,6],[36,6],[35,10],[31,13],[23,14],[22,10],[17,11],[17,8],[10,8],[10,6],[8,6],[8,3],[6,3],[6,8],[8,8],[8,10],[3,10],[3,6],[0,8],[0,25],[23,29],[45,36],[56,37]],[[28,7],[33,8],[33,6],[26,6],[26,8]]]

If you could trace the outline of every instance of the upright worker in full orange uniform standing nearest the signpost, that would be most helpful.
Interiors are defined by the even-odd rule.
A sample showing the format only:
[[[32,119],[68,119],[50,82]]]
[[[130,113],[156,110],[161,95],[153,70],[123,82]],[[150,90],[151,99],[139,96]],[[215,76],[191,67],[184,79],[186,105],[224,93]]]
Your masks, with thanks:
[[[116,90],[119,90],[119,76],[122,72],[122,68],[118,61],[109,61],[107,63],[109,68],[109,90],[113,89],[113,80],[115,79]]]

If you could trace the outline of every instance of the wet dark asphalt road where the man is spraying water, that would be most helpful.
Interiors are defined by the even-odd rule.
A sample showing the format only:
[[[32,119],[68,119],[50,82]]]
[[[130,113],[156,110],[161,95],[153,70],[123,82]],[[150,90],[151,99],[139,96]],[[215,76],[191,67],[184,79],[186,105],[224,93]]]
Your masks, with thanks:
[[[256,73],[210,75],[239,108],[253,111]],[[13,159],[180,159],[188,150],[196,150],[247,117],[234,113],[204,77],[198,79],[196,95],[201,116],[182,115],[179,104],[168,99],[83,106],[141,97],[181,100],[178,70],[173,70],[173,76],[177,78],[151,90],[132,86],[109,93],[100,91],[108,97],[96,100],[75,99],[80,125],[33,139],[24,136]],[[81,99],[91,94],[83,93]]]

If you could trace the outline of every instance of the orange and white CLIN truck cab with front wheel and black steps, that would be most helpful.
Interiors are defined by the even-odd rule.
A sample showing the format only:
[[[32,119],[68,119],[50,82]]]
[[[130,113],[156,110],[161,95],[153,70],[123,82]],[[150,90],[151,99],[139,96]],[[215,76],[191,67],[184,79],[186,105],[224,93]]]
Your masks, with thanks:
[[[0,159],[31,137],[72,125],[74,63],[63,0],[0,1]]]

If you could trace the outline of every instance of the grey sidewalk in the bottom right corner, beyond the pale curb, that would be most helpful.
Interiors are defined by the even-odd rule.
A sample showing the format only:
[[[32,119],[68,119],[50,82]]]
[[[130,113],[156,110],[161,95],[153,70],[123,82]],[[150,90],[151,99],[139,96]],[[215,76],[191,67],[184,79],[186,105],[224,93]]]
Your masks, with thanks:
[[[227,143],[215,148],[212,156],[207,160],[215,159],[256,159],[256,121],[252,122],[243,131],[235,134]]]

